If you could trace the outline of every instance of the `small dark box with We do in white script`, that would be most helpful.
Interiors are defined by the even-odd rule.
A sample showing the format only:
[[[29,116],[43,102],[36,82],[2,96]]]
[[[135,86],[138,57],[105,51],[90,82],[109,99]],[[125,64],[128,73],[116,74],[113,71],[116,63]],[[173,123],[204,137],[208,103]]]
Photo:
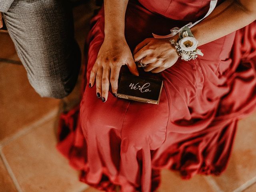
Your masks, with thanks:
[[[158,104],[162,92],[163,81],[160,79],[121,74],[117,97]]]

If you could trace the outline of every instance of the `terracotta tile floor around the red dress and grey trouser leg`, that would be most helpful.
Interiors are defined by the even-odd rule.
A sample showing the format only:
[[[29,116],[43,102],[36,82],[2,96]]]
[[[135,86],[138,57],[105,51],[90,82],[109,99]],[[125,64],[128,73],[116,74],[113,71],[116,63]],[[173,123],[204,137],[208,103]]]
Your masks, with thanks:
[[[93,2],[93,1],[91,1]],[[76,39],[83,50],[94,4],[74,8]],[[85,11],[86,10],[86,11]],[[6,49],[8,47],[8,49]],[[19,61],[7,34],[0,33],[0,58]],[[56,151],[54,130],[62,102],[79,102],[80,84],[61,100],[41,98],[22,65],[0,62],[0,192],[97,192]],[[162,170],[158,192],[256,192],[256,113],[240,120],[226,172],[181,180]]]

